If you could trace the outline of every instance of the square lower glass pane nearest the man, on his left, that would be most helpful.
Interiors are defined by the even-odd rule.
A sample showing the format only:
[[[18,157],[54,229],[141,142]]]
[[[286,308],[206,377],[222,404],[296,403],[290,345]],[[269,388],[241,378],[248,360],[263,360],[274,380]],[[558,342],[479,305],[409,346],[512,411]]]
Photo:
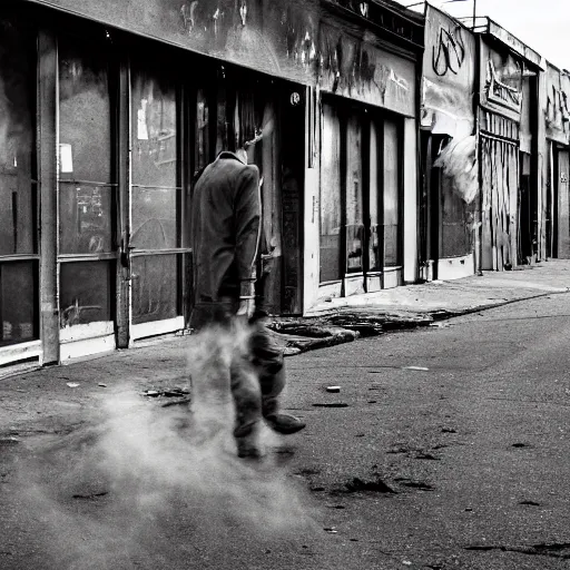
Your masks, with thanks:
[[[132,323],[149,323],[178,315],[176,255],[132,258]]]

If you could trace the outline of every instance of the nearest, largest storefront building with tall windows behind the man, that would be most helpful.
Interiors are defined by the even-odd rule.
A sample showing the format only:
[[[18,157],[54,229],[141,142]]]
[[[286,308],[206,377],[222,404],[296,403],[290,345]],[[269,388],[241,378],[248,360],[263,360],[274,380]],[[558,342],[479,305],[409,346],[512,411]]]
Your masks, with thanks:
[[[392,7],[345,4],[2,2],[0,365],[184,331],[193,179],[219,150],[259,134],[274,314],[301,314],[320,296],[328,247],[320,237],[335,235],[323,191],[345,200],[335,255],[350,271],[336,281],[358,275],[354,289],[365,289],[364,271],[384,265],[394,283],[414,279],[422,26]],[[401,43],[416,51],[390,48]],[[323,190],[322,145],[334,129],[343,181]],[[347,156],[347,137],[360,141],[351,144],[358,159]],[[365,234],[373,227],[382,239]],[[377,256],[374,272],[363,247]]]

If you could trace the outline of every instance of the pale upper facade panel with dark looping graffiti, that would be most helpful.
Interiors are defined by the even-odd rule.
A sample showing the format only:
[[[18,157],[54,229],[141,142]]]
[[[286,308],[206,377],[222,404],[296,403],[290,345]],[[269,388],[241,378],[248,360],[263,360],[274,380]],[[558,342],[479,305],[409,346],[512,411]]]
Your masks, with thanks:
[[[428,4],[423,59],[422,126],[463,138],[473,132],[475,39]]]

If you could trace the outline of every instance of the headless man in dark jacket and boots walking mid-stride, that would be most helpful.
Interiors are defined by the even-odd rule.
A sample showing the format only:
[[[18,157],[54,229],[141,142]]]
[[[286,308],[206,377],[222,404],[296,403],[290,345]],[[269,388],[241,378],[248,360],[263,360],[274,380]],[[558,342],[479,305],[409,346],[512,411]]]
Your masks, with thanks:
[[[279,412],[278,396],[285,386],[283,352],[263,323],[262,299],[255,295],[262,202],[259,171],[247,164],[247,145],[235,154],[220,153],[196,183],[191,220],[195,305],[190,326],[230,327],[242,321],[249,327],[246,354],[233,357],[229,376],[238,455],[258,458],[262,416],[279,433],[295,433],[305,424]]]

